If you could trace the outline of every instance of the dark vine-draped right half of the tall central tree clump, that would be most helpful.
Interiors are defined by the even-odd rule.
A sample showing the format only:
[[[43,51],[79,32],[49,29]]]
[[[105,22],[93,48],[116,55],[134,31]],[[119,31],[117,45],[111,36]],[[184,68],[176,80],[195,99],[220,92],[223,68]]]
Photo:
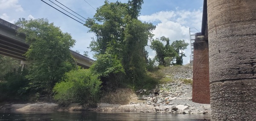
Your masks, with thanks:
[[[151,23],[142,23],[137,19],[132,19],[125,28],[125,51],[122,62],[128,78],[133,83],[144,78],[147,55],[145,46],[149,37],[152,36],[151,30],[154,28],[155,26]]]

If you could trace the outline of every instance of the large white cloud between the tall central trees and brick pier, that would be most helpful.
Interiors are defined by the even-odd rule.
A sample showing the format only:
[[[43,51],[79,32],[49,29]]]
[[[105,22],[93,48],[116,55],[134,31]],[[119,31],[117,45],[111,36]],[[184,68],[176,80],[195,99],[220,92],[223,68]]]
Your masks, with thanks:
[[[195,27],[198,30],[201,29],[202,11],[176,9],[176,11],[161,11],[151,15],[143,15],[139,19],[157,23],[156,29],[153,31],[154,38],[165,36],[169,37],[170,43],[175,40],[185,40],[187,43],[190,43],[189,27]],[[150,42],[148,42],[148,45],[150,45]],[[146,49],[149,52],[149,57],[154,57],[155,52],[148,47]],[[187,57],[183,57],[183,64],[186,64],[190,60],[190,45],[187,46],[184,52]]]

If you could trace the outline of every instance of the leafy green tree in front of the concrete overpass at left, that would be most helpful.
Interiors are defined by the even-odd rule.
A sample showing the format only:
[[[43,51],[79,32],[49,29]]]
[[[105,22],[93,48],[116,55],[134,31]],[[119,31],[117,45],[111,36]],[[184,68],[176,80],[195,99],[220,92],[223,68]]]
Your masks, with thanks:
[[[68,33],[63,33],[59,27],[49,23],[47,19],[25,20],[16,23],[21,28],[19,33],[26,34],[26,42],[30,43],[26,58],[31,60],[26,78],[30,87],[38,92],[52,91],[56,82],[60,81],[65,72],[75,65],[70,47],[75,40]]]

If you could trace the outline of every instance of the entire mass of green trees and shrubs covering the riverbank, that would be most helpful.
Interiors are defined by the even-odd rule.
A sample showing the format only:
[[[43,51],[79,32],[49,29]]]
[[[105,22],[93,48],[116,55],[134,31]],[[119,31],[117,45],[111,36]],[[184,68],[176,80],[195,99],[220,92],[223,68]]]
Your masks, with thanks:
[[[188,43],[176,40],[170,45],[164,36],[153,39],[155,26],[138,20],[142,4],[143,0],[105,1],[94,17],[87,19],[84,26],[96,35],[89,47],[96,59],[90,69],[76,66],[69,50],[75,44],[70,34],[61,32],[47,19],[18,20],[18,33],[25,33],[30,43],[25,56],[31,63],[24,71],[13,71],[12,67],[1,77],[4,80],[0,86],[9,86],[1,88],[0,93],[6,92],[6,97],[1,95],[0,101],[7,101],[8,95],[15,93],[20,97],[28,95],[27,101],[95,105],[104,92],[120,87],[153,89],[163,78],[155,74],[159,73],[157,69],[182,65]],[[157,53],[154,59],[148,58],[145,50],[148,41]],[[11,74],[19,79],[9,78]]]

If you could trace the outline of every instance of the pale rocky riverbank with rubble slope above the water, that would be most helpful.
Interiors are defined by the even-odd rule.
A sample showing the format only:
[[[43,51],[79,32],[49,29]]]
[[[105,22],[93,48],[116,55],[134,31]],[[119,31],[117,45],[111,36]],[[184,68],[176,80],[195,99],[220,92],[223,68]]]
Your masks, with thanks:
[[[205,114],[210,113],[209,104],[192,102],[191,66],[175,66],[161,69],[163,83],[153,90],[140,89],[133,92],[131,89],[117,89],[106,94],[97,107],[84,107],[71,104],[60,107],[53,103],[36,104],[6,104],[0,110],[32,111],[32,110],[67,110],[67,111],[119,111],[119,112],[157,112]],[[186,80],[186,81],[184,81]]]

